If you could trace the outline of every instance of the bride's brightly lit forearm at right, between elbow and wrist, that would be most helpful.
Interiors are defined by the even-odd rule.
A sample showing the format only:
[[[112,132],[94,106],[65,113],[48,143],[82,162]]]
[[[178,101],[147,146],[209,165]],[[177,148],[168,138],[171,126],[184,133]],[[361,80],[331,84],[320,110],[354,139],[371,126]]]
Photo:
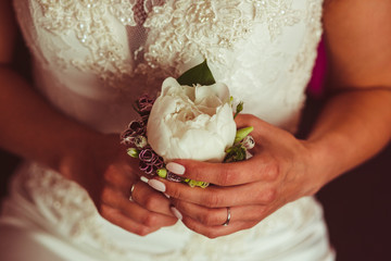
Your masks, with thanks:
[[[313,167],[321,175],[318,186],[369,159],[390,138],[390,89],[357,89],[333,96],[307,138]]]

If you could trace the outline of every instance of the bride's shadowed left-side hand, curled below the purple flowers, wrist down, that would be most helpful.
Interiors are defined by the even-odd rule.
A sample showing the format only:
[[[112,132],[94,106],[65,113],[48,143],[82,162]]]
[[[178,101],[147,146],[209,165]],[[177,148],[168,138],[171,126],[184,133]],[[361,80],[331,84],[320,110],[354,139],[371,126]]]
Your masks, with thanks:
[[[140,236],[177,222],[168,199],[140,181],[138,161],[127,156],[118,136],[84,141],[85,149],[64,160],[60,171],[86,188],[104,219]]]

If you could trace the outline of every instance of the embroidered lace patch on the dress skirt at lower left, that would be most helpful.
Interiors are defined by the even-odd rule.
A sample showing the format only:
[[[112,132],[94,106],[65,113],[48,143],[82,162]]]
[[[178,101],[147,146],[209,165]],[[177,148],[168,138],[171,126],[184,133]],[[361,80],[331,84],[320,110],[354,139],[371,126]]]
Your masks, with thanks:
[[[45,216],[46,227],[51,227],[76,245],[87,236],[99,244],[104,252],[116,256],[125,253],[99,229],[102,220],[81,187],[38,164],[29,165],[21,183]]]

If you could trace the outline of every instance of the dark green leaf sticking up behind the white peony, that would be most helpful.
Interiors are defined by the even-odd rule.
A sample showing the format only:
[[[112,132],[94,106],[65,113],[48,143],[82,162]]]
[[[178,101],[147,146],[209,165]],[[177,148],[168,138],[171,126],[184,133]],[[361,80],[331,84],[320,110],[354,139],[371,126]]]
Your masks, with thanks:
[[[189,69],[182,75],[177,78],[180,85],[193,86],[200,85],[213,85],[216,83],[210,67],[207,66],[206,60],[201,64]]]

